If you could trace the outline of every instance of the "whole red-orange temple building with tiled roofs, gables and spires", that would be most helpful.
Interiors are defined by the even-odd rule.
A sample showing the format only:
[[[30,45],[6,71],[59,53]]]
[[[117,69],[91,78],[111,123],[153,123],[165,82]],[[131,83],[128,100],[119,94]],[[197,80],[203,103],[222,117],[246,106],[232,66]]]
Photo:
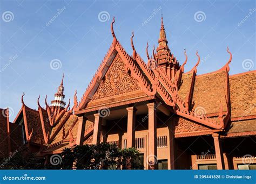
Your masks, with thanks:
[[[46,160],[65,147],[106,142],[136,147],[145,169],[256,169],[256,70],[197,75],[197,61],[179,63],[161,18],[158,46],[145,62],[128,54],[111,24],[112,44],[78,102],[64,102],[63,77],[51,105],[25,105],[13,123],[0,114],[0,157],[26,146]],[[146,45],[146,44],[145,44]],[[184,73],[187,62],[194,67]]]

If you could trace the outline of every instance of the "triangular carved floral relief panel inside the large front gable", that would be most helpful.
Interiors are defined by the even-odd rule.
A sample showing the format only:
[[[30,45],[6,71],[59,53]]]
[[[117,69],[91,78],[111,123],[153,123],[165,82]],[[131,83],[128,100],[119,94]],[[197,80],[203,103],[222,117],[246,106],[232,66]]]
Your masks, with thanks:
[[[125,63],[117,54],[105,75],[105,79],[100,82],[95,95],[92,97],[92,101],[139,89],[138,82],[127,73]]]

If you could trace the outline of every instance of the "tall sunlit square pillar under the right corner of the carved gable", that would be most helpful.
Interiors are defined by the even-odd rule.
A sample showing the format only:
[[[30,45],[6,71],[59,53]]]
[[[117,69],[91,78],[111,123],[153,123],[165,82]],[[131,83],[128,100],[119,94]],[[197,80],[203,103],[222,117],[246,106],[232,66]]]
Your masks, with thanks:
[[[147,162],[149,169],[157,168],[157,109],[155,103],[148,103],[149,109],[149,154]]]

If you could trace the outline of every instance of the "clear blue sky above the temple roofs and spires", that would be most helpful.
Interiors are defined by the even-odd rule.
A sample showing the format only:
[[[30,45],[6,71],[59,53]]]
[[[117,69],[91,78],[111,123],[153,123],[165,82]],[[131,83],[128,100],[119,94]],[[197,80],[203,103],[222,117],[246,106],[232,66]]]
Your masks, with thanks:
[[[37,109],[40,94],[44,107],[45,95],[50,103],[62,73],[65,101],[73,100],[76,89],[80,99],[112,43],[113,16],[117,39],[132,54],[134,31],[134,46],[145,61],[147,41],[150,54],[157,46],[163,10],[169,48],[180,63],[186,48],[185,72],[196,64],[197,50],[203,60],[198,74],[220,69],[229,59],[227,46],[233,54],[231,75],[255,69],[254,1],[2,0],[0,7],[0,108],[11,108],[11,121],[23,91],[26,105]],[[61,67],[52,69],[51,61]]]

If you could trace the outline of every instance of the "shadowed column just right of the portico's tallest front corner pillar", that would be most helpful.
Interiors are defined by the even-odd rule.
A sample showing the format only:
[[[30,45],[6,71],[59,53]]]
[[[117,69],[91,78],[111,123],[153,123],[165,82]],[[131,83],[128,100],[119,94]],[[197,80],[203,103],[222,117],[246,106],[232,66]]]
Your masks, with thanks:
[[[172,122],[168,124],[169,136],[168,136],[168,169],[174,169],[174,130]]]

